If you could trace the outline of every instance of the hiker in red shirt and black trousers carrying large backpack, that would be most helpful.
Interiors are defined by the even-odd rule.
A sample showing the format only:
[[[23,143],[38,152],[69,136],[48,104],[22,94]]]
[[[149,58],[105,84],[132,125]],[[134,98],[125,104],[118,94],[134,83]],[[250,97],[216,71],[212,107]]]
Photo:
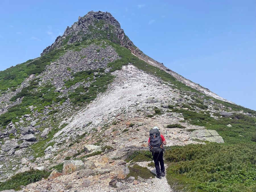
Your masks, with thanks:
[[[152,152],[152,156],[155,163],[156,168],[156,177],[158,179],[162,179],[162,176],[165,176],[165,169],[164,169],[164,160],[163,160],[163,154],[164,154],[164,145],[166,145],[166,141],[164,139],[164,136],[160,134],[160,131],[158,127],[154,127],[149,131],[149,139],[148,139],[148,146],[150,148],[150,151]],[[161,166],[161,169],[159,167],[159,163]]]

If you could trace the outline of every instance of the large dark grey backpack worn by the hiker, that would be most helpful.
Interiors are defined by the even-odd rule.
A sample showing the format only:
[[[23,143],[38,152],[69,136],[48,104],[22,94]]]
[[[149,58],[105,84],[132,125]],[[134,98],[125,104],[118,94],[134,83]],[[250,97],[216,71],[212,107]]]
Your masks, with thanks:
[[[160,153],[164,151],[161,134],[158,129],[151,129],[149,131],[149,138],[150,138],[149,140],[150,152]]]

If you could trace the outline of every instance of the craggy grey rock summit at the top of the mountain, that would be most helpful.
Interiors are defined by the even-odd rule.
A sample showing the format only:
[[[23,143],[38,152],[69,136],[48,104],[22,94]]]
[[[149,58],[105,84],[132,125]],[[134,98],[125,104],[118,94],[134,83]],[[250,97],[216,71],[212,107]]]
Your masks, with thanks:
[[[66,44],[93,39],[108,39],[130,50],[135,47],[110,13],[90,11],[83,17],[79,16],[71,27],[68,26],[62,36],[58,36],[51,46],[43,50],[41,56]]]

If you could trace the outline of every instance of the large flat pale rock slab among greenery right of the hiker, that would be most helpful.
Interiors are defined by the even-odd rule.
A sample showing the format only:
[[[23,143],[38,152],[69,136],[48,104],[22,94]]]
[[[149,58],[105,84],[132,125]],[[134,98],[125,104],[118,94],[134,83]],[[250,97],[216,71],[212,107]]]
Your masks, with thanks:
[[[210,129],[195,130],[189,135],[189,138],[209,142],[224,143],[222,137],[217,133],[217,131]]]

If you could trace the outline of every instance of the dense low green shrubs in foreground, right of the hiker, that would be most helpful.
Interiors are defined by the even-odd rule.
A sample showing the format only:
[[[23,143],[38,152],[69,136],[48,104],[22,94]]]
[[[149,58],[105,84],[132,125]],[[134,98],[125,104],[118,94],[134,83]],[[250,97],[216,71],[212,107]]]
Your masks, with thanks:
[[[246,191],[256,187],[255,144],[189,144],[169,148],[165,158],[172,162],[168,182],[177,190]]]

